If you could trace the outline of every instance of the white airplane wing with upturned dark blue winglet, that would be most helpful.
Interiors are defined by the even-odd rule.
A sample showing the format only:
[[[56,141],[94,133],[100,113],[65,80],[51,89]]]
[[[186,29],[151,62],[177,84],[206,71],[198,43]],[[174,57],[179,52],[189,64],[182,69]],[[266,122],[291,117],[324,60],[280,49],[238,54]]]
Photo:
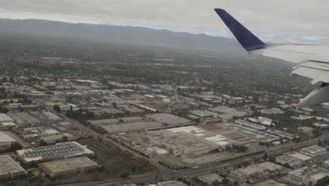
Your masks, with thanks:
[[[246,27],[221,8],[214,9],[225,25],[247,51],[246,54],[258,54],[298,63],[292,74],[312,79],[316,86],[307,97],[301,99],[298,107],[312,106],[329,101],[329,46],[302,44],[265,44]]]

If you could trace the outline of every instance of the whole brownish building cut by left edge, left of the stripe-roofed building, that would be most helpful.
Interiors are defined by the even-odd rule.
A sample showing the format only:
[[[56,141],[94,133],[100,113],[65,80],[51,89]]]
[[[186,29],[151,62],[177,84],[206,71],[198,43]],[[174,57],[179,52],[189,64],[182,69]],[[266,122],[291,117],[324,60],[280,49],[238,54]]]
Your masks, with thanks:
[[[20,175],[26,175],[24,170],[11,156],[0,156],[0,179],[15,178]]]

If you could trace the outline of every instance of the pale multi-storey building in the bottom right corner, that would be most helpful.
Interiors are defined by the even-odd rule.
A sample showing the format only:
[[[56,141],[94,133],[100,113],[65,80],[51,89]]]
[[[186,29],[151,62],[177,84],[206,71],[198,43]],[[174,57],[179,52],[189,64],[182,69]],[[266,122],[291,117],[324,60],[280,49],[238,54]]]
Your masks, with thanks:
[[[285,180],[293,185],[316,185],[318,180],[325,178],[326,174],[316,168],[303,167],[290,171]]]

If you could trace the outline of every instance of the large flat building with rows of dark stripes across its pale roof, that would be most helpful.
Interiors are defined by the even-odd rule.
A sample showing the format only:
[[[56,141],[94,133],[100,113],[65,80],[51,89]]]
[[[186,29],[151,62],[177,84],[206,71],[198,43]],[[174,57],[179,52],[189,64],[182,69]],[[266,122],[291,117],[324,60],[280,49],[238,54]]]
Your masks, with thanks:
[[[93,151],[89,150],[78,142],[63,142],[34,149],[18,150],[17,157],[23,163],[32,161],[54,161],[59,159],[69,159],[77,156],[93,156]]]

